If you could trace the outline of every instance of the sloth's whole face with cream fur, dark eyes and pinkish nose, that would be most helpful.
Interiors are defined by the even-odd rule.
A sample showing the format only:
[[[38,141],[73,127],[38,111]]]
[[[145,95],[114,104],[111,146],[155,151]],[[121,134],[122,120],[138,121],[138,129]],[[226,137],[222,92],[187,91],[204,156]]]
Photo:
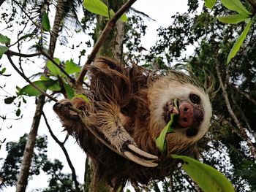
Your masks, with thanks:
[[[176,114],[174,133],[168,134],[167,141],[171,140],[176,145],[194,143],[208,131],[211,104],[203,88],[178,81],[172,76],[163,77],[151,86],[148,99],[152,139],[159,136],[171,113]]]

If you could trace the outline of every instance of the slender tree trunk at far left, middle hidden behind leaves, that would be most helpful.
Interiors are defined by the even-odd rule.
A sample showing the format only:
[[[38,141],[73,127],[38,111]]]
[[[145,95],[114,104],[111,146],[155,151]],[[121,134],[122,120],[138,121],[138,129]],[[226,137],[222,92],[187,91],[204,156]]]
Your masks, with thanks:
[[[48,54],[53,57],[53,53],[56,46],[56,41],[59,35],[59,28],[61,26],[61,20],[64,15],[64,0],[59,0],[56,7],[56,15],[53,23],[53,30],[50,36],[50,45],[48,49]],[[20,167],[20,174],[18,177],[18,183],[16,186],[16,192],[26,191],[26,186],[28,185],[29,169],[31,166],[31,159],[34,154],[34,145],[36,142],[37,131],[39,127],[39,122],[42,116],[42,107],[45,104],[45,96],[39,96],[37,101],[37,108],[34,114],[33,123],[31,126],[31,131],[29,132],[29,137],[26,142],[26,147],[24,150],[23,161]]]

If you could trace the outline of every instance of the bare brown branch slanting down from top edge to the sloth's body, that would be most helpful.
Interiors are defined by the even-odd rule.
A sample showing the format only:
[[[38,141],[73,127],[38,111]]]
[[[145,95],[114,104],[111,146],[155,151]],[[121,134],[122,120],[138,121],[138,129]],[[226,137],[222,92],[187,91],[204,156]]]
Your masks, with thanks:
[[[83,65],[83,69],[81,70],[81,72],[78,76],[78,79],[76,81],[76,85],[78,86],[78,90],[82,87],[83,78],[85,77],[86,72],[87,72],[86,66],[91,64],[91,62],[94,60],[95,55],[99,51],[99,48],[102,46],[103,42],[105,42],[105,39],[108,37],[108,34],[110,33],[110,31],[115,26],[116,21],[118,20],[118,18],[120,18],[121,15],[123,15],[124,12],[126,12],[127,9],[129,9],[129,7],[131,7],[132,4],[134,4],[135,1],[136,0],[127,1],[126,4],[124,4],[120,9],[118,9],[118,11],[113,16],[113,18],[111,18],[108,21],[107,25],[105,26],[104,30],[102,31],[102,34],[100,35],[99,39],[95,43],[93,50],[91,50],[91,54],[89,55],[89,58],[87,59],[86,64]]]

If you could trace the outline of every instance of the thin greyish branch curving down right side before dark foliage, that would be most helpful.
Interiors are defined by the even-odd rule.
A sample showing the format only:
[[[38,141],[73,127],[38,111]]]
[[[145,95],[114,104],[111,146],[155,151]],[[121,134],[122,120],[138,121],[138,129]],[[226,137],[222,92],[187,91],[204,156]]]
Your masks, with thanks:
[[[254,145],[252,144],[251,139],[249,139],[248,135],[246,134],[246,131],[244,130],[243,126],[241,126],[241,123],[239,122],[238,118],[236,117],[236,114],[233,112],[231,105],[230,105],[230,100],[228,99],[227,96],[227,90],[226,90],[226,85],[227,82],[225,82],[225,84],[222,82],[222,77],[220,75],[219,72],[219,64],[216,64],[216,70],[217,70],[217,75],[218,75],[218,79],[219,79],[219,84],[222,88],[222,95],[225,99],[225,103],[226,103],[226,107],[227,107],[227,111],[230,113],[231,118],[234,120],[234,122],[236,123],[236,126],[239,128],[239,130],[241,131],[241,135],[244,137],[244,139],[247,142],[247,145],[252,153],[253,158],[256,159],[256,150]],[[227,72],[228,69],[226,69],[226,75],[228,74]],[[226,80],[228,79],[228,77],[226,76]]]

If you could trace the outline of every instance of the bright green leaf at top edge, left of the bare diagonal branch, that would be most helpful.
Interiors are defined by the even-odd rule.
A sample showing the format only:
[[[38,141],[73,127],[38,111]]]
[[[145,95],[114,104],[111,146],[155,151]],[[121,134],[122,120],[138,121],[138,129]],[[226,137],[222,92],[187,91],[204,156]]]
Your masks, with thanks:
[[[115,12],[113,12],[112,9],[110,9],[108,12],[108,6],[100,0],[85,0],[83,1],[83,7],[89,10],[89,12],[93,12],[95,14],[102,15],[107,18],[109,18],[109,15],[110,18],[112,18],[113,15],[115,15]]]

